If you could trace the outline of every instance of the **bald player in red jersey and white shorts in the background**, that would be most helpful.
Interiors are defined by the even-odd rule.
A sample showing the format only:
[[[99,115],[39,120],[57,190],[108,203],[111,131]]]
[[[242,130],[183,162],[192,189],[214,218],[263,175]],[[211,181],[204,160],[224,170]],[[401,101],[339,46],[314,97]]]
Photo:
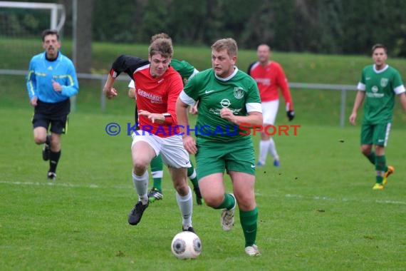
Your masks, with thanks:
[[[271,48],[266,44],[258,46],[256,51],[258,61],[251,63],[248,74],[255,79],[259,88],[259,95],[262,103],[262,116],[264,126],[274,125],[276,114],[279,108],[279,88],[286,103],[286,113],[289,121],[293,120],[295,113],[291,92],[289,91],[288,79],[286,79],[283,68],[279,63],[271,61]],[[261,142],[259,143],[259,160],[257,166],[263,166],[266,162],[268,152],[274,157],[274,166],[279,167],[279,155],[276,152],[274,139],[261,132]]]

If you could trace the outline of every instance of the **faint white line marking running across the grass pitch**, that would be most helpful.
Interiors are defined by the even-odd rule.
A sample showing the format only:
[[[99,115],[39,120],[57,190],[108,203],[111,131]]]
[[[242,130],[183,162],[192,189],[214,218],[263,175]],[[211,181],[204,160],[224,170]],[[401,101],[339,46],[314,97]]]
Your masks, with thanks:
[[[37,186],[61,186],[61,187],[67,187],[67,188],[93,188],[93,189],[110,189],[110,188],[115,188],[115,189],[132,189],[132,186],[130,185],[113,185],[113,186],[100,186],[100,185],[94,185],[94,184],[89,184],[89,185],[73,185],[71,183],[58,183],[58,182],[48,182],[48,183],[33,183],[33,182],[13,182],[13,181],[6,181],[6,180],[0,180],[0,183],[5,183],[9,185],[37,185]],[[264,196],[261,193],[256,193],[256,196],[262,197]],[[274,198],[281,198],[281,195],[266,195],[266,196],[271,196]],[[383,203],[383,204],[400,204],[400,205],[406,205],[406,202],[404,201],[398,201],[398,200],[350,200],[348,198],[330,198],[330,197],[325,197],[325,196],[304,196],[304,195],[297,195],[297,194],[286,194],[285,198],[303,198],[306,200],[326,200],[326,201],[340,201],[340,202],[358,202],[358,203]]]

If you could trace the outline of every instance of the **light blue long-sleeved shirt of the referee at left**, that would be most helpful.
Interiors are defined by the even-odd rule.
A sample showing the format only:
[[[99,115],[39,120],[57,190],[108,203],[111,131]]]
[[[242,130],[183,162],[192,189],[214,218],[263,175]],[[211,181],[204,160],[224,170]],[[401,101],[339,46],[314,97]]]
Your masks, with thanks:
[[[75,96],[79,91],[75,66],[61,52],[58,52],[58,58],[54,61],[46,59],[45,51],[33,56],[26,79],[30,101],[38,97],[45,103],[58,103]],[[61,84],[62,91],[53,90],[52,80]]]

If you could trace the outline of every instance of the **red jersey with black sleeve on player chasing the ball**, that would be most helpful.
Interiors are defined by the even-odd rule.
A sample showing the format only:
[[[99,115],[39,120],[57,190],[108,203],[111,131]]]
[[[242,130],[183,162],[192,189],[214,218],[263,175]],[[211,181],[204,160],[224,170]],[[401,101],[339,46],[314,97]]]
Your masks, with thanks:
[[[113,77],[125,71],[135,82],[137,110],[150,113],[165,114],[165,123],[152,123],[145,116],[138,116],[142,131],[148,131],[161,138],[174,136],[177,126],[176,101],[183,89],[183,81],[174,68],[169,67],[161,77],[154,78],[150,74],[150,63],[142,58],[120,56],[110,71]],[[139,132],[140,133],[140,132]]]

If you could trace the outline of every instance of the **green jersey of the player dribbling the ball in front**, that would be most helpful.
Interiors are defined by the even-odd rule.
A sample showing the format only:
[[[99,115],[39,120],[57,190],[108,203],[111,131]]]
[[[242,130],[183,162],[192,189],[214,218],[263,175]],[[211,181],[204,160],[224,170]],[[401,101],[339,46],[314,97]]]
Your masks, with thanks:
[[[220,116],[222,108],[229,108],[236,116],[262,112],[256,82],[238,68],[228,78],[219,78],[212,68],[201,71],[187,83],[179,97],[190,106],[199,101],[197,126],[189,127],[190,133],[197,136],[197,143],[251,141],[251,136],[247,136],[251,133],[246,128],[248,125],[236,126]]]

